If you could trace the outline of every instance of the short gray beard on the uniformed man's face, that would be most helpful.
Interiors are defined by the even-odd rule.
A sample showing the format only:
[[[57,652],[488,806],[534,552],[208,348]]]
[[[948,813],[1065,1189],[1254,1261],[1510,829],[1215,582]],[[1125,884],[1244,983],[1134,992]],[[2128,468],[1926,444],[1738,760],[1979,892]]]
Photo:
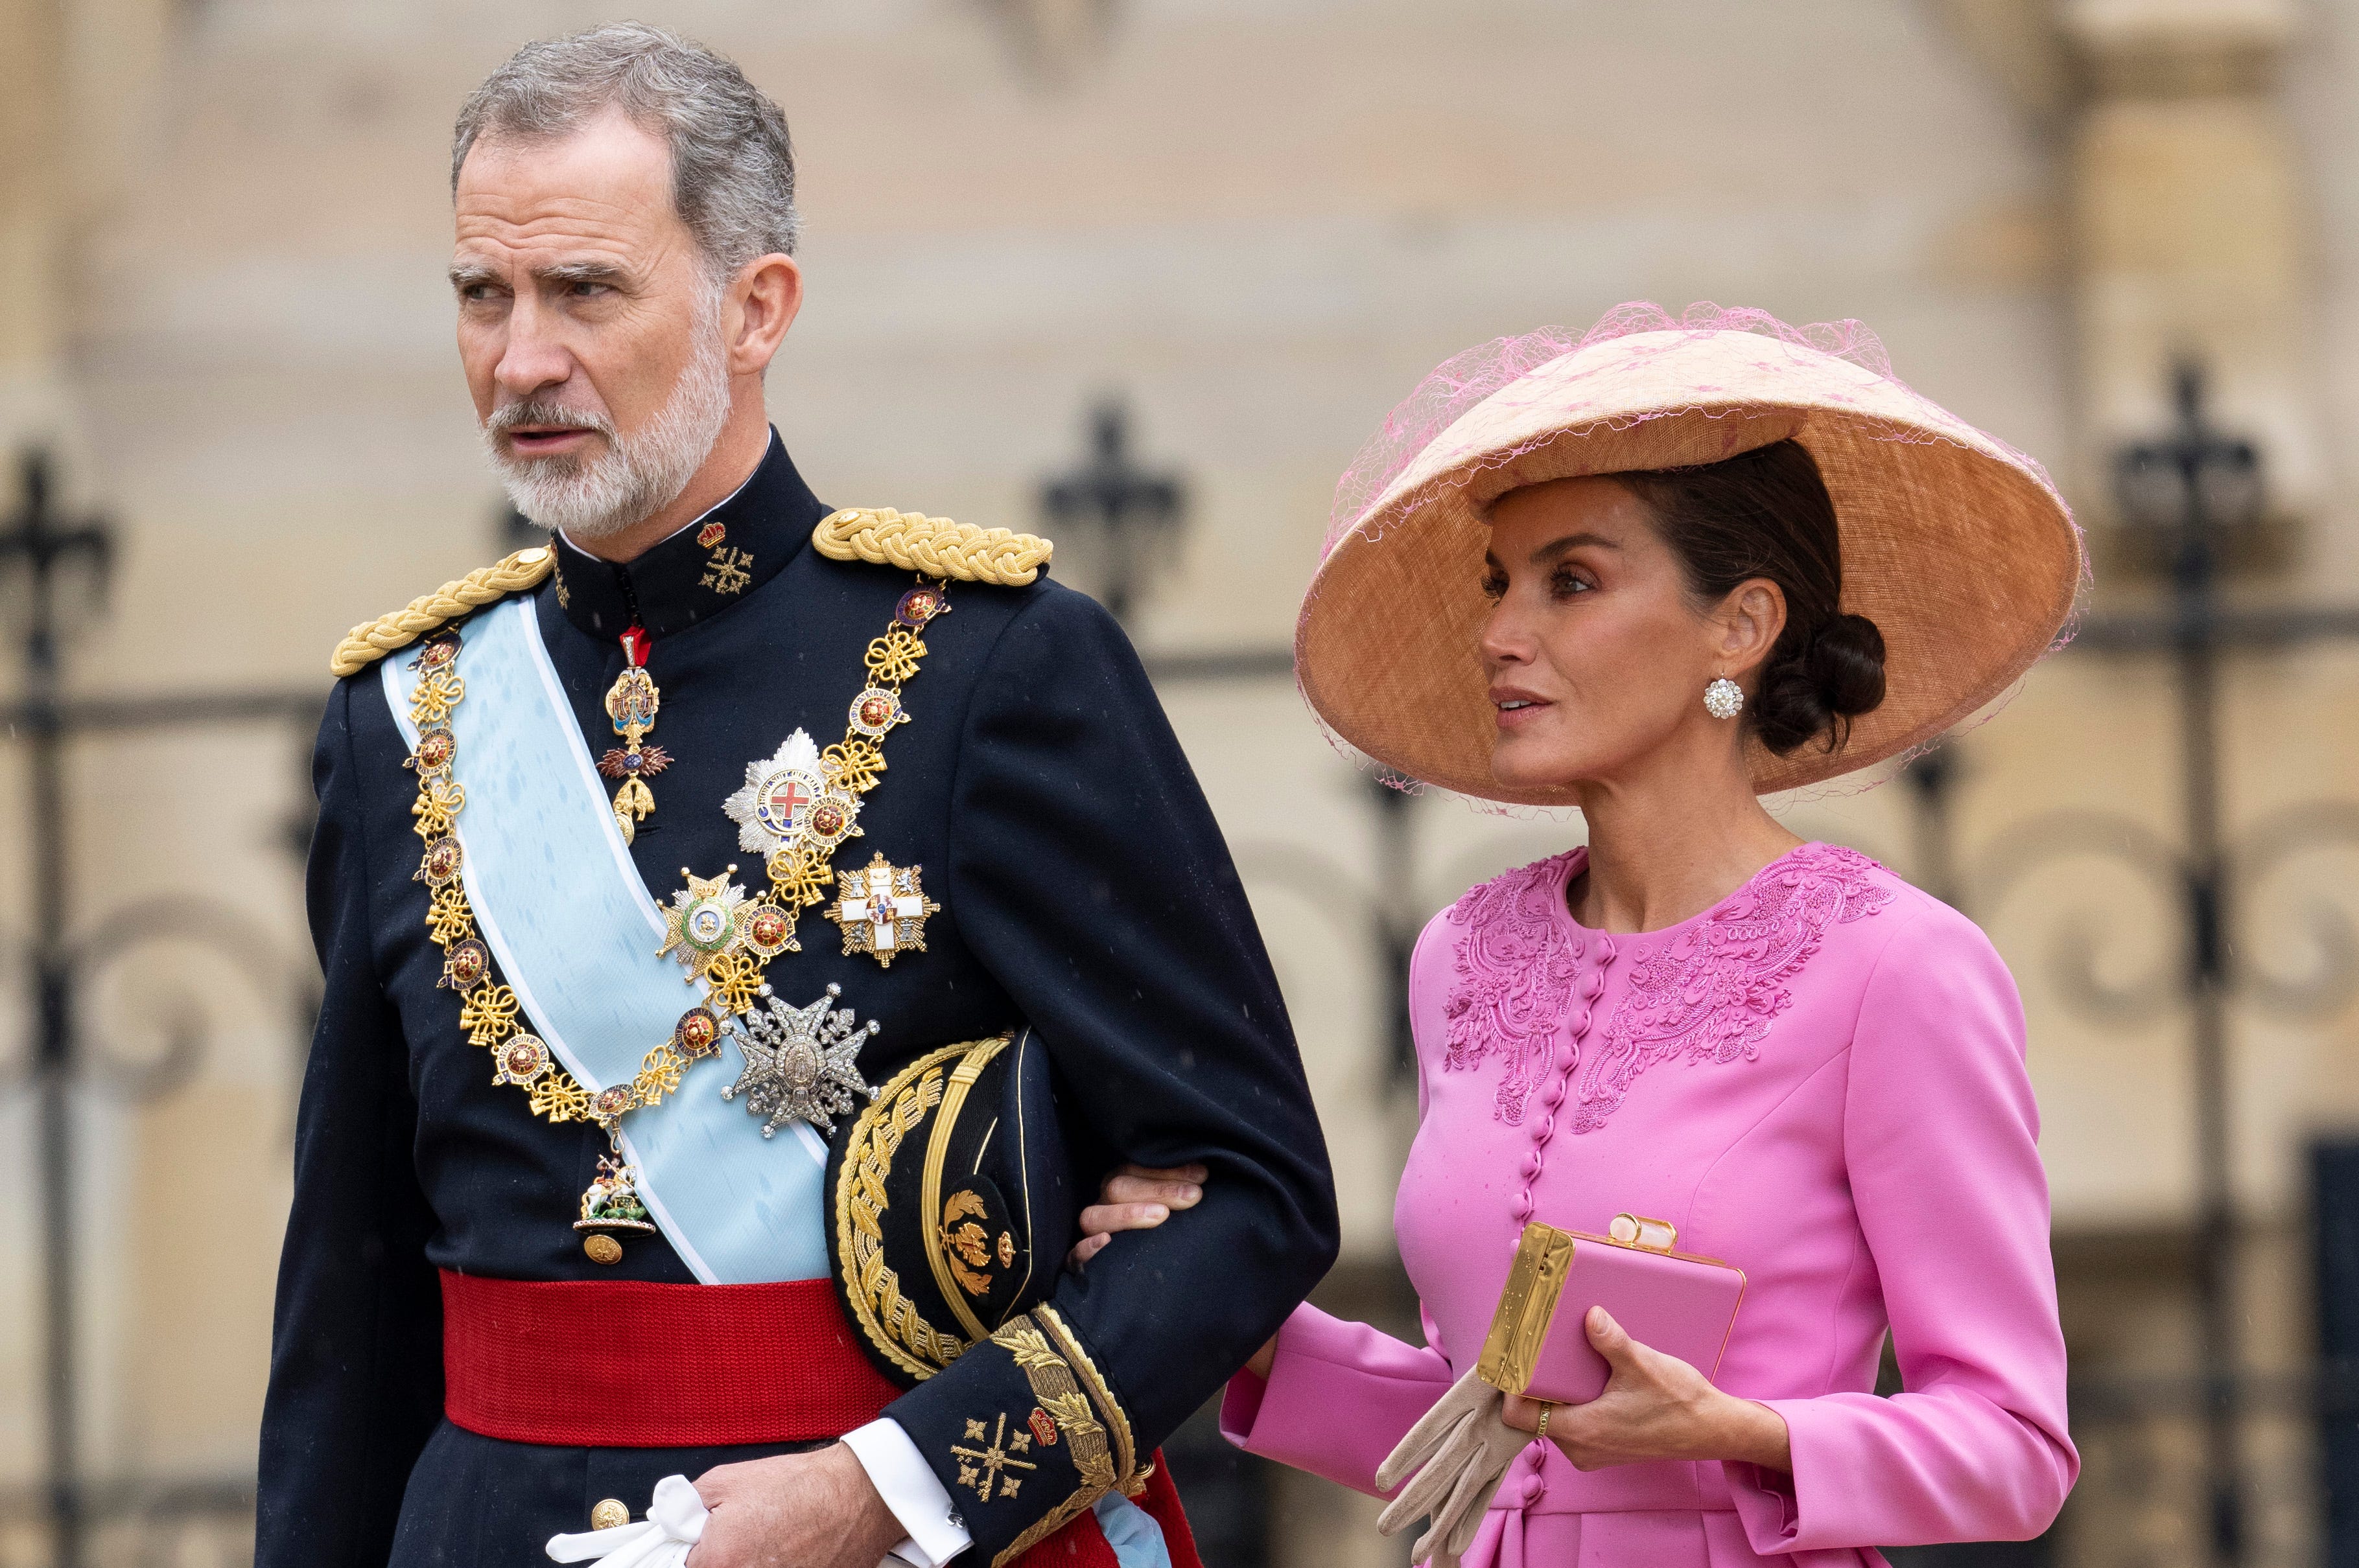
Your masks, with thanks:
[[[672,396],[637,436],[625,436],[604,413],[526,398],[484,420],[484,450],[507,500],[543,528],[576,542],[606,540],[656,516],[689,488],[729,422],[729,358],[722,351],[719,297],[698,311],[696,354]],[[517,424],[561,424],[606,436],[597,460],[510,457],[500,434]]]

